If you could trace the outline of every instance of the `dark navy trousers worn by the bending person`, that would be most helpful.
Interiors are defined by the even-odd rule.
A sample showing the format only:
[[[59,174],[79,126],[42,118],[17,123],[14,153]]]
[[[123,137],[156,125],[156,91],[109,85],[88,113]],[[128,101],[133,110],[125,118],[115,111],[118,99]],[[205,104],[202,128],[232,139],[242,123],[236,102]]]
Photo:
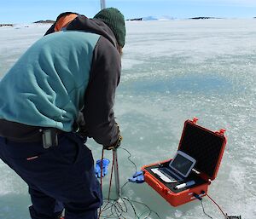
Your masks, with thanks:
[[[0,137],[0,158],[28,184],[32,219],[96,219],[102,192],[90,149],[79,135],[65,133],[57,147]]]

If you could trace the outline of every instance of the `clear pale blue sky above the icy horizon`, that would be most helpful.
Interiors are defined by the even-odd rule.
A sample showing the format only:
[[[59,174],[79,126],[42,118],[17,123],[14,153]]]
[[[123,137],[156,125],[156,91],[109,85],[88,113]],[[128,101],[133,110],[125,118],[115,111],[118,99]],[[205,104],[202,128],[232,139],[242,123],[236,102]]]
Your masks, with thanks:
[[[256,0],[106,0],[106,6],[119,9],[125,19],[147,16],[177,19],[256,17]],[[0,23],[55,20],[58,14],[66,11],[93,17],[99,10],[100,0],[3,0]]]

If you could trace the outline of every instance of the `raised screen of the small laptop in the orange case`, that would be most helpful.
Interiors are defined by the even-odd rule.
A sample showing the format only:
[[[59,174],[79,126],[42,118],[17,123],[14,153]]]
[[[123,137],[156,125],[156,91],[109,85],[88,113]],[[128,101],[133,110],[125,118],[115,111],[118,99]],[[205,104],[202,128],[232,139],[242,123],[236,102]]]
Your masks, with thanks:
[[[175,158],[172,159],[169,166],[172,170],[177,171],[181,176],[187,177],[195,166],[195,159],[186,153],[177,151]]]

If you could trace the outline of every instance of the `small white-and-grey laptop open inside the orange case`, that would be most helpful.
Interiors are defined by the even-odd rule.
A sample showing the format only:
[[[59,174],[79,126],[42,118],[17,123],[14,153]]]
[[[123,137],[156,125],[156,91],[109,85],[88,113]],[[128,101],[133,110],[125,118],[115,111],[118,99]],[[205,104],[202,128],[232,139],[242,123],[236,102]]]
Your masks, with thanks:
[[[168,166],[152,168],[152,172],[160,177],[164,182],[180,182],[189,176],[195,166],[196,160],[187,153],[177,151]]]

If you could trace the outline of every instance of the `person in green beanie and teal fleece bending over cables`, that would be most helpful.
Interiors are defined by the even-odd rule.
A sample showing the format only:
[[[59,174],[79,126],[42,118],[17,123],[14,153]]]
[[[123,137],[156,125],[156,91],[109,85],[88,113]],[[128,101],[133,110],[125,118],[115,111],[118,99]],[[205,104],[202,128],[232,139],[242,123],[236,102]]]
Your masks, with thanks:
[[[104,149],[121,141],[113,104],[124,16],[113,8],[75,15],[82,24],[39,39],[0,81],[0,158],[27,183],[32,219],[58,218],[63,208],[65,219],[96,219],[102,192],[84,140]],[[79,112],[85,137],[73,130]]]

